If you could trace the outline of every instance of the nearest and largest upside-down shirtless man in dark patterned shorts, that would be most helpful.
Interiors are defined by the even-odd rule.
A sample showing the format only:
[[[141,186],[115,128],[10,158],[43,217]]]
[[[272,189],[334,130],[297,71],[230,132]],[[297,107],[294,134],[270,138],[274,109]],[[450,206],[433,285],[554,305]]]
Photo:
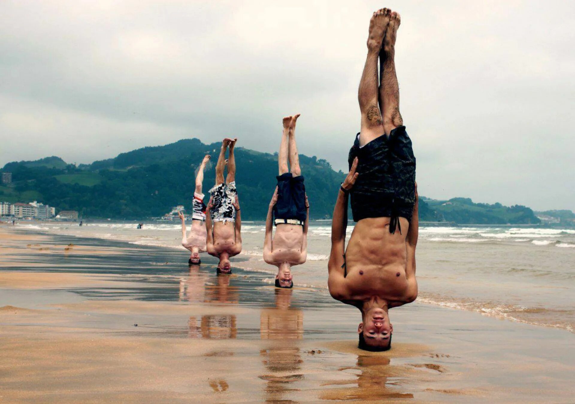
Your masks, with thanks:
[[[389,9],[371,17],[358,94],[361,132],[333,210],[328,264],[329,293],[361,310],[359,348],[371,351],[391,348],[388,310],[417,297],[415,157],[399,112],[393,60],[399,25],[399,14]],[[346,250],[348,194],[356,224]]]

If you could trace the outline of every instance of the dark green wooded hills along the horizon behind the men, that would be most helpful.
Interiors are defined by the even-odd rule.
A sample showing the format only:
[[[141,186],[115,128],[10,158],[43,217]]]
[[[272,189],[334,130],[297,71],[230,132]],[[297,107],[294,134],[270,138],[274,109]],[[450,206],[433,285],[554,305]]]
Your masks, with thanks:
[[[141,220],[159,217],[172,206],[191,209],[195,171],[206,153],[212,155],[205,172],[204,193],[215,181],[220,143],[184,139],[144,147],[107,160],[76,167],[60,157],[8,163],[13,183],[0,186],[0,201],[48,203],[58,210],[78,210],[84,217]],[[300,155],[313,219],[330,218],[345,174],[328,161]],[[236,182],[245,220],[264,220],[277,175],[277,154],[236,147]],[[208,197],[206,196],[206,202]],[[460,224],[539,224],[525,206],[474,203],[469,198],[449,201],[420,198],[420,220]]]

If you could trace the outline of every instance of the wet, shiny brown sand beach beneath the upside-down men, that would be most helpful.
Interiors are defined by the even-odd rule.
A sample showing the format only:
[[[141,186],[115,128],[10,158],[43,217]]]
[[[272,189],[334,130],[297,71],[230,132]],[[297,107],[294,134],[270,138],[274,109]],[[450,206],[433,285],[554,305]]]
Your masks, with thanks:
[[[392,311],[393,349],[370,353],[356,348],[353,307],[325,291],[275,290],[251,272],[216,276],[211,257],[188,268],[185,252],[7,227],[0,244],[0,401],[568,402],[575,393],[565,330],[416,302]]]

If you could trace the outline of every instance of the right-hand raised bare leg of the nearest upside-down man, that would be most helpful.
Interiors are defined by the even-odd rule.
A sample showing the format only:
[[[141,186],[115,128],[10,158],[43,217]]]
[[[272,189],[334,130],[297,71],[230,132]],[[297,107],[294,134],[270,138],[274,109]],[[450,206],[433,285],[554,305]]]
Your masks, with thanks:
[[[390,14],[388,29],[385,33],[383,47],[383,63],[381,66],[381,86],[379,87],[379,99],[382,102],[382,116],[384,120],[385,134],[403,125],[403,119],[399,112],[399,84],[395,69],[395,42],[397,29],[401,17],[395,11]]]

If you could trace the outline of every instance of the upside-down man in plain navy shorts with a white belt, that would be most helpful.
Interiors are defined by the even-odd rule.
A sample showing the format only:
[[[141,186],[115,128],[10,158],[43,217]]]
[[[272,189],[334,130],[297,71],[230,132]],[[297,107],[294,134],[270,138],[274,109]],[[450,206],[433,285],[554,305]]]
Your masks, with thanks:
[[[278,267],[276,287],[293,287],[291,268],[303,264],[308,255],[309,202],[296,145],[296,121],[299,116],[283,118],[278,155],[279,175],[276,177],[278,186],[267,210],[263,260]],[[288,158],[290,171],[287,170]],[[275,236],[272,239],[273,225]]]

